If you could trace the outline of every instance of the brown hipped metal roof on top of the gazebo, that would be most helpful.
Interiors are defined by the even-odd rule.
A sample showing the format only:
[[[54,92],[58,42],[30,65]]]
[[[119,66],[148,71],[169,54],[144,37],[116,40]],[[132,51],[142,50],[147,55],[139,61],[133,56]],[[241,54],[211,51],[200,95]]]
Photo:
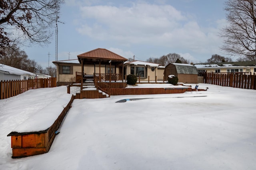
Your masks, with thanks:
[[[80,58],[81,59],[83,58],[83,59],[103,59],[103,60],[127,61],[127,59],[122,57],[121,55],[113,53],[112,51],[109,51],[104,48],[97,48],[92,51],[88,51],[86,53],[77,55],[77,57],[78,57],[79,61],[80,61]]]

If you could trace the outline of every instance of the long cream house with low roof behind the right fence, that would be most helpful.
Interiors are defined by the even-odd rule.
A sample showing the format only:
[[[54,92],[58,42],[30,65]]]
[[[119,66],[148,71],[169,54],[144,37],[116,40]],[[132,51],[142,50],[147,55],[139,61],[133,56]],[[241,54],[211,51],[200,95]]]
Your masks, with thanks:
[[[234,73],[245,72],[248,74],[256,73],[256,61],[239,61],[223,63],[199,63],[194,64],[198,72],[207,71],[208,73]]]

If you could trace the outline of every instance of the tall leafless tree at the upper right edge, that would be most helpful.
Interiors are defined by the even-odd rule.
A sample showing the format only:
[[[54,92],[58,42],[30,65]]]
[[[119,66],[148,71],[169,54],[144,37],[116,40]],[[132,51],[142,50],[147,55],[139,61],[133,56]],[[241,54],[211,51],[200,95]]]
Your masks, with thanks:
[[[221,30],[222,50],[229,55],[242,55],[256,60],[256,1],[228,0],[225,3],[229,25]]]

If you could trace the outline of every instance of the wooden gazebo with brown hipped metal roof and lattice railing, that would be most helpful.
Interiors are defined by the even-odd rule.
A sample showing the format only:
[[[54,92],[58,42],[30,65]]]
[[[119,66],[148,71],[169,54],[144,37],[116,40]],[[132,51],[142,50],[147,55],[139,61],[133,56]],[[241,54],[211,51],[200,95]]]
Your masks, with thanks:
[[[84,66],[85,65],[94,65],[94,82],[97,80],[97,82],[105,81],[109,82],[111,84],[112,81],[122,81],[124,82],[124,61],[127,61],[126,58],[122,57],[121,55],[118,55],[112,51],[109,51],[108,49],[104,48],[97,48],[91,51],[88,51],[86,53],[82,53],[80,55],[77,55],[78,61],[81,63],[82,67],[82,77],[81,77],[81,90],[83,88],[83,83],[86,80],[86,73],[84,73]],[[99,65],[99,73],[96,73],[96,65]],[[101,70],[101,65],[108,65],[110,68],[105,73]],[[114,66],[114,70],[112,71],[112,68]],[[116,73],[118,68],[118,73]],[[112,73],[114,72],[114,73]],[[92,75],[91,75],[92,76]]]

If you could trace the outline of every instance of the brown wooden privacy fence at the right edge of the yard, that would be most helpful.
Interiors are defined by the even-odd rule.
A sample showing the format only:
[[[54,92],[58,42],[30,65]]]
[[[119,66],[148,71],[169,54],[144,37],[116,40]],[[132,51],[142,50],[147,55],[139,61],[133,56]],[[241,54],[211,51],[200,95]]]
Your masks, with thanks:
[[[256,75],[241,73],[207,73],[199,72],[199,76],[204,77],[204,83],[221,85],[226,87],[236,87],[241,89],[256,90]]]

